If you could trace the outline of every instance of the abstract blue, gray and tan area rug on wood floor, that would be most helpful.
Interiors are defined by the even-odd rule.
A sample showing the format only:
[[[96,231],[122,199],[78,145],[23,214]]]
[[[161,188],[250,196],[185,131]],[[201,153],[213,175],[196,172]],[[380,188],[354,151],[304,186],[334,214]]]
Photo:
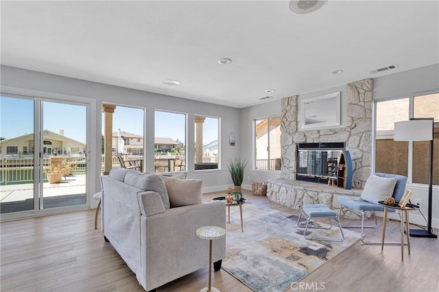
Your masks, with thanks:
[[[244,232],[239,208],[230,209],[222,269],[257,292],[286,291],[360,237],[359,233],[343,229],[343,242],[307,240],[303,237],[305,228],[297,226],[296,215],[250,203],[242,209]],[[313,222],[312,226],[329,227],[320,222]],[[330,230],[308,228],[307,233],[311,237],[340,238],[340,229],[334,225]]]

